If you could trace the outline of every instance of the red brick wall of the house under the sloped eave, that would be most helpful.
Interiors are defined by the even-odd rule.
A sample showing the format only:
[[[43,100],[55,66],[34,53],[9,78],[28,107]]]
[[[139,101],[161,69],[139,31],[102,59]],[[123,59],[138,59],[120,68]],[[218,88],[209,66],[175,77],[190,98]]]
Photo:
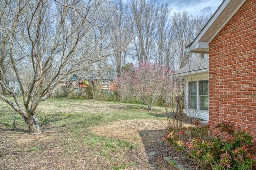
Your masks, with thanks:
[[[209,120],[256,140],[256,0],[247,0],[209,44]]]

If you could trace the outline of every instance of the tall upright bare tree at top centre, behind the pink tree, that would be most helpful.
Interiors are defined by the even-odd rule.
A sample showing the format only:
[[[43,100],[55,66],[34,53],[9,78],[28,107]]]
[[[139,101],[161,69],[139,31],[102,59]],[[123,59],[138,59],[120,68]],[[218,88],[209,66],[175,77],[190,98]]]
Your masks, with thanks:
[[[138,61],[146,62],[152,55],[156,32],[156,16],[158,5],[155,0],[134,0],[130,2],[130,19],[135,24],[133,27],[134,56]]]

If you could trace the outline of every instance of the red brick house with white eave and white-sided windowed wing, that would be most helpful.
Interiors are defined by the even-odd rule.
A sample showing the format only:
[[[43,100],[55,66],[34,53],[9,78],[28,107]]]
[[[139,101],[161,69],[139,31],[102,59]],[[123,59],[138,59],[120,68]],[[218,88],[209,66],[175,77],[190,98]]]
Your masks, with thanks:
[[[208,84],[210,124],[230,121],[256,140],[256,2],[224,0],[186,51],[199,53],[201,58],[194,61],[198,70],[193,70],[192,63],[190,70],[180,69],[188,71],[190,107],[202,109],[200,87]],[[203,67],[205,54],[209,55],[208,76]],[[206,106],[206,100],[202,102]]]

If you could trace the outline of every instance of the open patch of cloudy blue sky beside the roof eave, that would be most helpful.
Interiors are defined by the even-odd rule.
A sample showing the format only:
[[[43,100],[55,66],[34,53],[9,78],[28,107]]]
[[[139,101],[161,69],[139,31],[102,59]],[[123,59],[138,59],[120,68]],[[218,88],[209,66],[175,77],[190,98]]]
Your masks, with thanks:
[[[159,0],[159,2],[167,2],[172,12],[187,11],[193,16],[206,16],[218,9],[223,0]]]

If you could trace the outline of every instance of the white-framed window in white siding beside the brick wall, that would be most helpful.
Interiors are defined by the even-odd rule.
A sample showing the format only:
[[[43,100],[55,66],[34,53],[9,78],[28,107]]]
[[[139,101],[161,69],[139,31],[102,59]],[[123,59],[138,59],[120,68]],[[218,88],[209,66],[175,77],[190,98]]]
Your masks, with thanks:
[[[191,109],[208,110],[208,80],[188,82],[188,102]]]

